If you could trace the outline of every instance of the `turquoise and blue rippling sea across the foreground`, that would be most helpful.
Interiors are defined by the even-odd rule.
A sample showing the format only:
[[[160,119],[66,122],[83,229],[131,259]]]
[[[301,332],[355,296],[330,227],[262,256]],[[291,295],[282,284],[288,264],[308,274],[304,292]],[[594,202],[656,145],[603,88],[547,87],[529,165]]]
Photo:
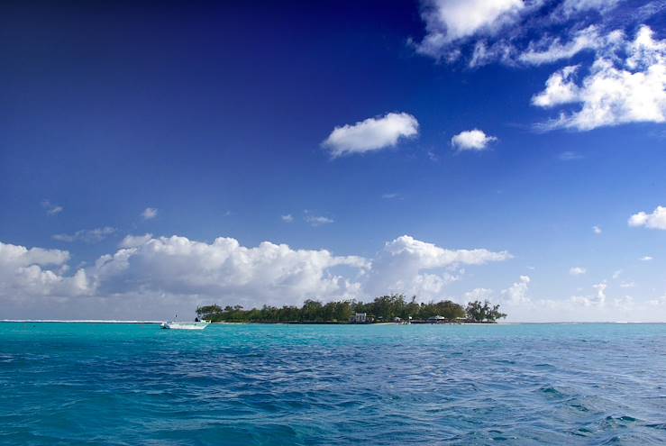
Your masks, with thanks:
[[[0,323],[0,444],[662,444],[666,325]]]

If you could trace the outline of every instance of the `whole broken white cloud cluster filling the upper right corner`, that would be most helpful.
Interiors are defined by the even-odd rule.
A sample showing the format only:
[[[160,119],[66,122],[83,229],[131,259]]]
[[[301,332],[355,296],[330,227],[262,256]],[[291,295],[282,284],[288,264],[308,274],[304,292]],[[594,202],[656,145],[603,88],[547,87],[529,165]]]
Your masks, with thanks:
[[[642,25],[663,7],[645,1],[632,14],[616,14],[620,1],[424,0],[425,36],[415,50],[447,62],[462,59],[472,68],[497,61],[543,66],[588,52],[591,66],[556,70],[533,96],[538,107],[566,106],[536,130],[664,123],[666,41]],[[637,28],[634,39],[627,39]]]

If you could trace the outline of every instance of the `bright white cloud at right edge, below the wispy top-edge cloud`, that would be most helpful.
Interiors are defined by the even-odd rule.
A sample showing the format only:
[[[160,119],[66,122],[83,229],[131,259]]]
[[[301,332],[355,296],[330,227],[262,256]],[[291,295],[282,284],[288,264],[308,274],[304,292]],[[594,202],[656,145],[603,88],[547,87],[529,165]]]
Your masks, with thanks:
[[[654,40],[649,27],[642,26],[634,41],[598,54],[580,85],[573,78],[575,72],[575,67],[555,72],[532,102],[541,107],[579,104],[579,111],[561,113],[538,129],[588,131],[623,123],[666,122],[666,41]]]

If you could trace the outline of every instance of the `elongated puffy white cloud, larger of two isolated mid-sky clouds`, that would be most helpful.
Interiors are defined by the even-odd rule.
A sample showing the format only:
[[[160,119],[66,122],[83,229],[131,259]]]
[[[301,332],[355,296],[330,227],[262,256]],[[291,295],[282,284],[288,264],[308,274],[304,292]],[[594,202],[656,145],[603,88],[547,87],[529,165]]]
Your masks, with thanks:
[[[411,114],[389,113],[353,125],[335,127],[322,143],[333,157],[382,150],[397,145],[400,138],[418,134],[418,122]]]

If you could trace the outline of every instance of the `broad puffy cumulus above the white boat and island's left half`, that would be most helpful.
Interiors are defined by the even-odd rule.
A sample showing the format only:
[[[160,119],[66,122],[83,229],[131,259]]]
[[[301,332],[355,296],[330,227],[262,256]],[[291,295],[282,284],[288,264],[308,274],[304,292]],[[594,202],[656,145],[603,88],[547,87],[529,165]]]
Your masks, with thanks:
[[[209,244],[172,236],[103,256],[97,260],[96,274],[107,292],[142,289],[224,296],[229,303],[259,305],[357,296],[358,283],[331,271],[340,266],[369,268],[365,259],[333,256],[327,250],[292,250],[269,241],[246,248],[232,238],[217,238]]]

